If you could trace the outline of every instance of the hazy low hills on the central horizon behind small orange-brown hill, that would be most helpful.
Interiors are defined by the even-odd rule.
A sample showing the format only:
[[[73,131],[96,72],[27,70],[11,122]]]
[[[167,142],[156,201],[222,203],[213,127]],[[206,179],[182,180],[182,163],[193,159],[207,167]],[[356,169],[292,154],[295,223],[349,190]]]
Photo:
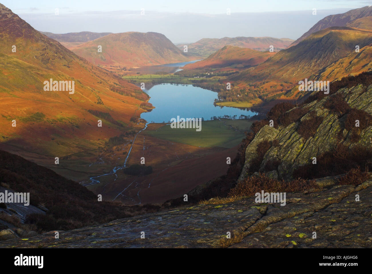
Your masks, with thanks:
[[[257,51],[269,51],[270,45],[273,45],[274,51],[279,51],[288,47],[292,42],[293,40],[288,38],[279,39],[272,37],[203,38],[195,43],[187,44],[187,52],[195,56],[208,57],[226,45],[250,48]],[[184,44],[177,44],[177,47],[183,50]]]

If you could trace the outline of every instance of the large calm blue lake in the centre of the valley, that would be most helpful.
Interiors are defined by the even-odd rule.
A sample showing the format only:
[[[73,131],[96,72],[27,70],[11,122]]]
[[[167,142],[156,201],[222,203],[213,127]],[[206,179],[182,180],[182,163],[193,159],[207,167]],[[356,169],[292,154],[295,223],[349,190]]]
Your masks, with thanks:
[[[234,116],[241,114],[253,116],[256,113],[235,107],[219,107],[213,104],[217,92],[192,85],[159,84],[144,90],[151,98],[154,109],[141,114],[147,122],[168,122],[171,118],[204,118],[211,120],[213,116]]]

